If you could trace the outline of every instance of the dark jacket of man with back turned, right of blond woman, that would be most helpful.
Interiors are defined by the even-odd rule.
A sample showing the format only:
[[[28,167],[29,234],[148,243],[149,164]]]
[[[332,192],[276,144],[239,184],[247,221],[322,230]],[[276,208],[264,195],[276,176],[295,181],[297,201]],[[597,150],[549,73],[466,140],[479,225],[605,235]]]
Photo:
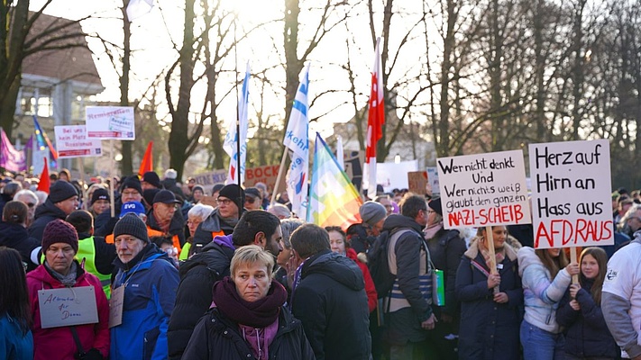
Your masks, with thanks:
[[[307,258],[300,274],[292,312],[303,322],[316,359],[368,360],[370,313],[361,269],[352,259],[323,250]]]

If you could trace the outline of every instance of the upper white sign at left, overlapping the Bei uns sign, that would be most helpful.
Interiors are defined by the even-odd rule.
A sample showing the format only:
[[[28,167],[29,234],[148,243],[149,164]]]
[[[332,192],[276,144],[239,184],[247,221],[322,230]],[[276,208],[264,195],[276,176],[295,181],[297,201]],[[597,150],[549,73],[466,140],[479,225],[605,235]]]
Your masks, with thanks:
[[[135,139],[133,107],[87,106],[87,138]]]

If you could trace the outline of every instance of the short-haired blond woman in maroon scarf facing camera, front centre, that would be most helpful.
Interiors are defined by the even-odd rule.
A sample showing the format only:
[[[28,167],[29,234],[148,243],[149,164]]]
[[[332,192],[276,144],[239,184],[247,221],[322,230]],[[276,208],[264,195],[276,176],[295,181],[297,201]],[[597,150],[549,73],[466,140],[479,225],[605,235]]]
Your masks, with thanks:
[[[186,359],[314,359],[303,326],[283,306],[271,279],[274,257],[261,247],[236,250],[231,276],[214,285],[212,308],[194,329]]]

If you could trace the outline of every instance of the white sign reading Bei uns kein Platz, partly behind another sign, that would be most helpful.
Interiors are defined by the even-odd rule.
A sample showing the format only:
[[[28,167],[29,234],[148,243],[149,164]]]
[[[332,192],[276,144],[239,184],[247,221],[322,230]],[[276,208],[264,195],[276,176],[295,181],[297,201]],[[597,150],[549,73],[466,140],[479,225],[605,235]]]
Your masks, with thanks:
[[[103,145],[100,139],[88,139],[87,128],[83,125],[54,126],[56,150],[59,158],[100,157]]]

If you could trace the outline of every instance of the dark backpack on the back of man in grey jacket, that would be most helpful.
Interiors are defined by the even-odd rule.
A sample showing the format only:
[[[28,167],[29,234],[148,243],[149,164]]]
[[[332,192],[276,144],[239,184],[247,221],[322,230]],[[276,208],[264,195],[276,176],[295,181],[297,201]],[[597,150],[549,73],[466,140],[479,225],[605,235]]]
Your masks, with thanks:
[[[398,230],[401,230],[401,232],[410,231],[408,229],[405,229],[405,231]],[[398,230],[393,231],[393,233],[397,234]],[[400,234],[398,235],[400,236]],[[396,275],[389,272],[388,247],[390,236],[392,236],[392,233],[389,230],[381,232],[379,238],[374,241],[373,246],[370,247],[370,251],[367,253],[367,267],[370,269],[371,280],[374,282],[379,299],[389,295],[396,281]]]

